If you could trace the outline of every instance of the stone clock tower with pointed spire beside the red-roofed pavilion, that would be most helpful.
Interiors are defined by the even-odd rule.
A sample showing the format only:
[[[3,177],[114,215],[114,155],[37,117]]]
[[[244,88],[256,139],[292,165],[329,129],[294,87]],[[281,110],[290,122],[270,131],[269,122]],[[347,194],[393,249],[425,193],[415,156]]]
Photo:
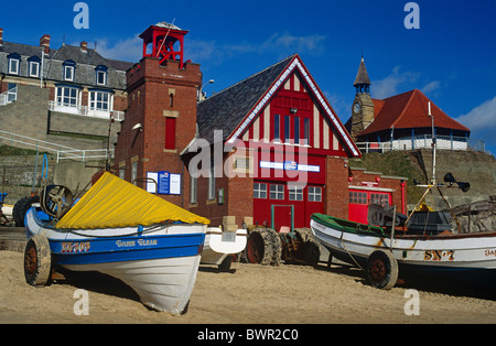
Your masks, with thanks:
[[[356,74],[355,100],[352,107],[352,137],[356,141],[358,134],[374,121],[374,102],[370,98],[370,79],[368,77],[365,61],[362,56],[360,66]]]

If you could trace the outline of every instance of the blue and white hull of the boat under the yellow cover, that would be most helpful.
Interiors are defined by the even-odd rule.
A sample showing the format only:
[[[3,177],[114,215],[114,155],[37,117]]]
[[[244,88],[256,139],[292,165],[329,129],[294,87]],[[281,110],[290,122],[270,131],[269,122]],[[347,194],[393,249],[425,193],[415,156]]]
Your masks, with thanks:
[[[112,275],[131,286],[143,304],[181,314],[196,280],[206,226],[60,230],[45,226],[31,208],[25,228],[29,237],[47,237],[54,264]]]

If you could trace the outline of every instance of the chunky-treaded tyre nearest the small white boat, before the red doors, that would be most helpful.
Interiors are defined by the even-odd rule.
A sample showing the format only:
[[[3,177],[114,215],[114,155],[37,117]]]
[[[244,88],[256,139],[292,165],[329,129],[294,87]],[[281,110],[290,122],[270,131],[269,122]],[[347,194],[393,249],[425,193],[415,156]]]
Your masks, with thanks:
[[[248,236],[246,258],[249,263],[279,264],[281,239],[270,228],[257,227]]]

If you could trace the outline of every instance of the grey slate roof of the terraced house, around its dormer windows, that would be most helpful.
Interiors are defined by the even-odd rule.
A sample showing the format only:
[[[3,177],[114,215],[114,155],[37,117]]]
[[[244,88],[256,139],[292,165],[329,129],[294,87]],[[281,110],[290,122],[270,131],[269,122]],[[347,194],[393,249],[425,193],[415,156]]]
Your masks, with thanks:
[[[20,77],[33,78],[29,76],[30,57],[36,56],[41,60],[42,48],[20,43],[3,41],[0,45],[0,74],[8,74],[8,56],[17,53],[21,56]],[[76,63],[75,79],[66,82],[63,79],[63,64],[65,61]],[[87,48],[83,52],[79,46],[63,45],[58,50],[50,50],[48,55],[44,57],[43,77],[55,83],[85,85],[100,89],[126,89],[126,71],[132,66],[132,63],[106,60],[97,51]],[[107,85],[101,86],[96,83],[95,68],[99,65],[106,66]],[[39,77],[36,77],[39,79]]]

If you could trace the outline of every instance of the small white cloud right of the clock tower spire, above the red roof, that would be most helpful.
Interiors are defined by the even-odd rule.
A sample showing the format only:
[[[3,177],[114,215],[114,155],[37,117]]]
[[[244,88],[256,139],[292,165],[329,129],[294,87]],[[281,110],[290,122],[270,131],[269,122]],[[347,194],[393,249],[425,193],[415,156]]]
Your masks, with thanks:
[[[373,80],[370,93],[374,98],[384,99],[400,94],[400,88],[411,86],[419,78],[419,73],[400,72],[400,66],[396,66],[392,73],[384,79]],[[405,90],[406,91],[406,90]]]

